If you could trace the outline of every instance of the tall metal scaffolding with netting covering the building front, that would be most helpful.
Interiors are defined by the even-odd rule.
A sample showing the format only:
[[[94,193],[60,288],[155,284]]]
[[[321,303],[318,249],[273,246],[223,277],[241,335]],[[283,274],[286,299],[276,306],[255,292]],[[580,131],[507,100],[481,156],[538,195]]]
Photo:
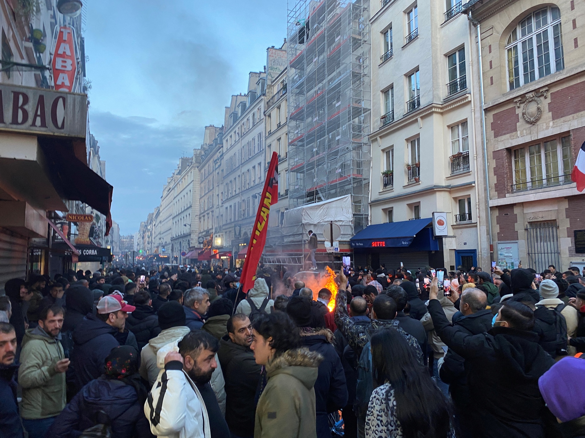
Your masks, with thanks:
[[[289,208],[349,194],[366,227],[370,178],[369,0],[288,5]]]

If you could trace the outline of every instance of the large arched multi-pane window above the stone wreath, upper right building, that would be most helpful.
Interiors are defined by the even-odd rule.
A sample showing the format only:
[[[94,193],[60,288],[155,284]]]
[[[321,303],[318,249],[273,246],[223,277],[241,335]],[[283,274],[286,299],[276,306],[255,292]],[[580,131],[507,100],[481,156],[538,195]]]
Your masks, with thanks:
[[[506,42],[508,88],[514,89],[565,68],[559,8],[531,13]]]

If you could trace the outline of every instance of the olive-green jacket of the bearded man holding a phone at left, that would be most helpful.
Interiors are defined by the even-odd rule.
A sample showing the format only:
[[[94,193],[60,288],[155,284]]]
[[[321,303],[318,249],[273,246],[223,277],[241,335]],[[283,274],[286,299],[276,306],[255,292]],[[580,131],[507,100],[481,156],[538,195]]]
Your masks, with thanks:
[[[22,418],[50,418],[59,415],[66,405],[65,373],[55,370],[55,364],[65,359],[60,337],[47,335],[39,326],[25,333],[18,370]]]

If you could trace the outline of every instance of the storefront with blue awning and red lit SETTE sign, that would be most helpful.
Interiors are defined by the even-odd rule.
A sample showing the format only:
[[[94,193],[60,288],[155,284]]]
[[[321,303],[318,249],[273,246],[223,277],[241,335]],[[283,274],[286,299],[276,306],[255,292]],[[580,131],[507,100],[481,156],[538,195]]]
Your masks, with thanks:
[[[355,266],[443,267],[443,238],[435,237],[432,222],[428,218],[369,225],[350,239]]]

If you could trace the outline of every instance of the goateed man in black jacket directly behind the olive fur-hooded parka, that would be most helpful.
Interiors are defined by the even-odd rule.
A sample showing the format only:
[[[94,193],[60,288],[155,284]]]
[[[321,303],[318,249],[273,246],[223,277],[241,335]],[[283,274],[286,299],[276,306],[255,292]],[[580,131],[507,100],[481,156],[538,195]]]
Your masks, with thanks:
[[[250,350],[252,323],[244,314],[228,319],[228,336],[220,340],[218,357],[225,380],[225,419],[232,436],[254,436],[254,397],[260,381],[261,366]]]

